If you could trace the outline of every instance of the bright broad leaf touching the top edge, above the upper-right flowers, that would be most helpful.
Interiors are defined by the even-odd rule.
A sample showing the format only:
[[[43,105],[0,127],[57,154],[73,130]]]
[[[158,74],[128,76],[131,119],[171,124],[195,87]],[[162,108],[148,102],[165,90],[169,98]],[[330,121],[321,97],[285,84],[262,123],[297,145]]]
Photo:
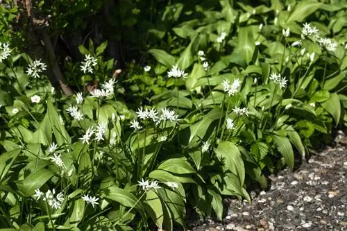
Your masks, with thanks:
[[[301,1],[295,6],[293,12],[291,12],[287,22],[303,22],[305,17],[311,15],[321,6],[323,6],[323,3],[319,3],[317,1]]]

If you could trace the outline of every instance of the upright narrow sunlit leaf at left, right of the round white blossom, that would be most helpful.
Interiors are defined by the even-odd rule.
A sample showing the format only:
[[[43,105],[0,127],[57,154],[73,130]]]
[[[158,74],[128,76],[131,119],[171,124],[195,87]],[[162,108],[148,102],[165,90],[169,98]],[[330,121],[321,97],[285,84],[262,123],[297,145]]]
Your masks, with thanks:
[[[71,138],[67,133],[67,130],[65,130],[65,127],[60,123],[58,113],[51,101],[47,101],[47,114],[49,116],[49,123],[51,123],[51,128],[53,130],[54,137],[56,137],[58,145],[71,144]]]

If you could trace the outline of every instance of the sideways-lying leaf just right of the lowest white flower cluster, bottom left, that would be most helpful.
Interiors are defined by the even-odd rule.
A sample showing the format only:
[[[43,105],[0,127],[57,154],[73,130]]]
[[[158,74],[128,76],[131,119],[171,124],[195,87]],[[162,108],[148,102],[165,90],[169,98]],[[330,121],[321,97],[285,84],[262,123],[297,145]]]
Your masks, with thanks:
[[[101,195],[110,200],[115,200],[126,207],[134,206],[135,209],[138,209],[139,211],[142,211],[143,209],[142,202],[140,200],[137,201],[138,199],[133,194],[117,186],[110,186],[103,189]]]

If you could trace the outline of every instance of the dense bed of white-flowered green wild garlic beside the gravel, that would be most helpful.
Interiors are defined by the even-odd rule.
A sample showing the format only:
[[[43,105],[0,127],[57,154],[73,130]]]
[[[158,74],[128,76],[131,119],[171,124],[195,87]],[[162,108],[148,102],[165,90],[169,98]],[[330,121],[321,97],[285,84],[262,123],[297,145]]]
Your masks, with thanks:
[[[0,230],[177,230],[251,203],[347,124],[346,11],[2,1]]]

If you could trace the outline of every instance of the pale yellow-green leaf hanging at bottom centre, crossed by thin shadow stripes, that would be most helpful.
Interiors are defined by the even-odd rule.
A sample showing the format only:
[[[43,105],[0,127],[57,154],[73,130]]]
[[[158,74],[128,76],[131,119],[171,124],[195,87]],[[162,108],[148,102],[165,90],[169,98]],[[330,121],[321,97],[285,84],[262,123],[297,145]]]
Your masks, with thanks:
[[[146,198],[144,199],[143,205],[144,209],[146,209],[146,212],[155,222],[155,225],[157,225],[157,227],[161,229],[162,222],[166,218],[164,218],[164,212],[160,198],[157,194],[155,194],[153,190],[146,191]]]

